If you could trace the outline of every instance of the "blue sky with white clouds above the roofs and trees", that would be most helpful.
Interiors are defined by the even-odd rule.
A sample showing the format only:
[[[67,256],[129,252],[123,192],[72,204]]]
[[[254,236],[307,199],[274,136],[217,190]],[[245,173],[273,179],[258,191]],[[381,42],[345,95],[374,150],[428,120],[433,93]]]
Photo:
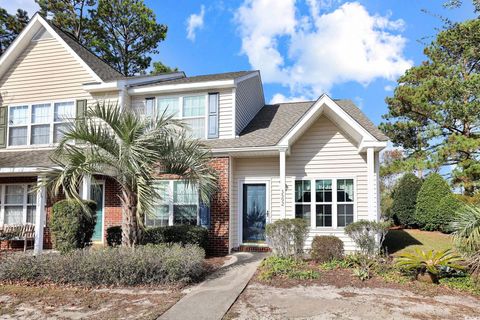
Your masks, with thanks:
[[[145,0],[168,25],[154,60],[187,75],[259,69],[270,101],[352,99],[375,122],[405,69],[424,60],[442,22],[474,17],[443,0]],[[0,0],[33,14],[33,0]],[[423,39],[423,40],[422,40]],[[423,41],[423,43],[421,43]]]

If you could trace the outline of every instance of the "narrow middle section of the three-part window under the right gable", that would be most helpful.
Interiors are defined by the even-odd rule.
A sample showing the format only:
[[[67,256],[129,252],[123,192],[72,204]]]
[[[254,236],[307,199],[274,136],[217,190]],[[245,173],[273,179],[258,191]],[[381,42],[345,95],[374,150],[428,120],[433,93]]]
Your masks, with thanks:
[[[332,226],[332,180],[315,181],[315,225]]]

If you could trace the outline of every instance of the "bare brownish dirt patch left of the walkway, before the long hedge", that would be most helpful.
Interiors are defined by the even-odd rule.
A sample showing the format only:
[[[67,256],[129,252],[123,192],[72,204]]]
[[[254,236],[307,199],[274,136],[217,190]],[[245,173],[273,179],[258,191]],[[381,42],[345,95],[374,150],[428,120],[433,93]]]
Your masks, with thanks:
[[[155,319],[183,294],[176,288],[0,287],[1,319]]]

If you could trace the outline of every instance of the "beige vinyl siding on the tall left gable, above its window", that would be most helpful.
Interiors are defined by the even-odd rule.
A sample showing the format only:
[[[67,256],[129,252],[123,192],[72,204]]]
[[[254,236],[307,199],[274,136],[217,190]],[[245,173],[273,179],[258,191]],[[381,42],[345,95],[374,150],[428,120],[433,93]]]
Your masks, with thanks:
[[[2,105],[90,99],[91,74],[56,39],[32,41],[0,79]]]

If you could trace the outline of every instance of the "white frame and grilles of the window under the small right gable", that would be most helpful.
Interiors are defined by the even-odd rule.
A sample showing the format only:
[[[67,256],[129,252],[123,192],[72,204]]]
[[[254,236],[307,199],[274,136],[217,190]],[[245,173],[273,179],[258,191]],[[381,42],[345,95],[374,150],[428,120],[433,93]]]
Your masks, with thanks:
[[[338,202],[337,201],[337,180],[353,180],[353,202]],[[353,204],[353,222],[357,221],[358,219],[358,212],[357,212],[357,204],[358,204],[358,191],[357,191],[357,177],[355,176],[319,176],[319,177],[302,177],[302,178],[295,178],[295,181],[303,181],[309,180],[311,186],[311,208],[310,208],[310,228],[317,229],[317,230],[343,230],[345,227],[338,226],[338,204]],[[316,180],[332,180],[332,202],[317,202],[317,193],[316,190]],[[295,199],[295,187],[293,190],[294,200]],[[296,213],[296,204],[304,204],[304,202],[296,202],[294,201],[294,214]],[[317,227],[317,214],[316,214],[316,205],[317,204],[331,204],[332,205],[332,226],[331,227]]]

